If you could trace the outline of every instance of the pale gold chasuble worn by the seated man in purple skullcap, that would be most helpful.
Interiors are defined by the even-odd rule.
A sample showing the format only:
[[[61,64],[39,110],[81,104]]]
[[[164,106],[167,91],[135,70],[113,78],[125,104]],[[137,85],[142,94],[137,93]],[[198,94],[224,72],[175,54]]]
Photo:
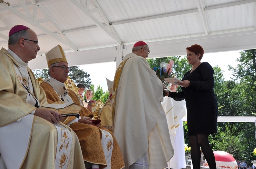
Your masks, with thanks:
[[[3,141],[0,141],[0,152],[1,154],[0,163],[8,168],[13,168],[13,165],[16,165],[15,168],[55,168],[55,157],[57,147],[57,129],[56,127],[49,123],[47,120],[34,116],[30,114],[33,112],[36,107],[30,105],[26,102],[28,91],[22,86],[17,77],[17,72],[15,67],[18,67],[13,56],[5,49],[0,51],[0,132],[1,138],[15,138],[16,135],[12,135],[13,130],[16,131],[17,128],[21,130],[26,130],[25,132],[30,132],[28,137],[23,138],[25,134],[17,133],[17,139],[10,140],[12,146],[5,146]],[[35,80],[33,72],[27,68],[32,87],[34,97],[39,101],[40,106],[46,105],[47,100],[43,89],[38,85]],[[32,118],[31,118],[32,117]],[[22,119],[21,119],[22,118]],[[29,122],[29,123],[25,123]],[[31,123],[30,123],[31,122]],[[68,130],[69,134],[72,134],[72,144],[70,140],[71,151],[69,152],[66,159],[69,161],[63,161],[67,168],[85,168],[83,159],[81,158],[81,149],[78,144],[78,139],[75,133],[66,125],[59,123],[63,129]],[[13,130],[10,127],[15,127]],[[66,133],[67,133],[66,132]],[[6,134],[6,135],[4,135]],[[47,138],[47,140],[45,140]],[[12,142],[17,144],[22,143],[27,144],[27,147],[17,147]],[[28,143],[25,143],[28,142]],[[16,147],[15,147],[16,146]],[[15,148],[15,150],[14,150]],[[17,162],[15,156],[19,153],[21,149],[24,150],[25,154],[23,161]],[[27,149],[27,150],[26,150]],[[5,152],[16,152],[9,154]],[[43,155],[42,155],[43,154]],[[64,154],[63,154],[64,155]],[[58,159],[56,159],[58,160]],[[63,159],[61,159],[63,160]],[[46,162],[47,161],[47,162]],[[60,163],[60,161],[58,162]],[[58,164],[57,163],[57,164]],[[57,165],[61,166],[63,163]],[[17,166],[20,165],[20,166]]]

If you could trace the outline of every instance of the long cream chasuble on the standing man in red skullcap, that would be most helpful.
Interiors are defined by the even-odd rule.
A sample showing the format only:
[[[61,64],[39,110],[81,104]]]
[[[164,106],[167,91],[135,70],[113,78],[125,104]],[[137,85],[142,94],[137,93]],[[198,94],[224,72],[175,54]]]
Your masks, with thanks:
[[[124,57],[114,77],[112,123],[127,169],[147,151],[150,169],[166,168],[174,154],[162,91],[161,80],[143,57]]]

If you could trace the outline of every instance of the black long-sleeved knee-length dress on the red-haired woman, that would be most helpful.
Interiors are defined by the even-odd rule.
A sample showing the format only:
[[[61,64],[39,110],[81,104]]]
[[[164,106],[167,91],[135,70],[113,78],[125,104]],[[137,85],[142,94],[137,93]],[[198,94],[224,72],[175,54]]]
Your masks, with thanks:
[[[214,70],[208,62],[202,62],[193,72],[188,71],[182,80],[189,80],[189,87],[182,92],[170,92],[168,97],[185,98],[188,135],[216,133],[218,105],[213,91]]]

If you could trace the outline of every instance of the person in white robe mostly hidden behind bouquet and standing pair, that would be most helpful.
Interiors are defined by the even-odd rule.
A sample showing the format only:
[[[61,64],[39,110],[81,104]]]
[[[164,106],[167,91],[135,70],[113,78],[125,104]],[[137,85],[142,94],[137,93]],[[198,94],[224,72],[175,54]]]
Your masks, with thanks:
[[[171,84],[170,92],[177,92],[177,85]],[[168,165],[171,169],[186,168],[184,132],[182,118],[187,114],[185,99],[176,101],[165,97],[161,103],[165,110],[174,155]]]

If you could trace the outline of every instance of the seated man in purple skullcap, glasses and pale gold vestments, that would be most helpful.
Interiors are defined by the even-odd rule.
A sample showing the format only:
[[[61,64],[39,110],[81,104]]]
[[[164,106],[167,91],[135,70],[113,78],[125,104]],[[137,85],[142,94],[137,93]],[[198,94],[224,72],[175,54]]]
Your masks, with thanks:
[[[58,123],[61,115],[40,108],[46,96],[28,68],[40,50],[37,35],[16,25],[8,47],[0,51],[0,168],[85,168],[76,134]]]

